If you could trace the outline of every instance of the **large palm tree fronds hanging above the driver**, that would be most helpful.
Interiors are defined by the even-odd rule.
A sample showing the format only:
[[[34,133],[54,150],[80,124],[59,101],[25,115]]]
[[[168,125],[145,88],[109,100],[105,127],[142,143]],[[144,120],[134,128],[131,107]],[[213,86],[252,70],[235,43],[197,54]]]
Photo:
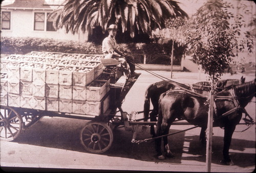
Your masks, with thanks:
[[[65,28],[73,34],[81,30],[88,36],[100,27],[102,34],[111,23],[132,38],[136,34],[151,35],[152,30],[165,27],[167,18],[188,17],[172,0],[67,0],[56,10],[55,28]]]

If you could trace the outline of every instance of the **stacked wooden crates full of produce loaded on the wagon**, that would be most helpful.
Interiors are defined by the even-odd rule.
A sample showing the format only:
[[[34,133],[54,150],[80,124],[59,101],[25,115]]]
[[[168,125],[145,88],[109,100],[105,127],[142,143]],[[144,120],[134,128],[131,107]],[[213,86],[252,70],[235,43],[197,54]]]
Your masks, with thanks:
[[[31,52],[1,59],[1,105],[83,115],[109,108],[101,55]],[[8,77],[7,77],[8,75]]]

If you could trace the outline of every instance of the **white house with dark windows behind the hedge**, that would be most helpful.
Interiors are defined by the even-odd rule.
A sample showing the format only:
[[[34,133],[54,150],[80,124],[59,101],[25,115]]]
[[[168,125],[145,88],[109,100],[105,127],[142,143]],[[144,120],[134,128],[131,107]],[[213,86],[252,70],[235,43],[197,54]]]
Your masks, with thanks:
[[[2,37],[39,37],[83,42],[86,37],[55,30],[47,16],[65,0],[5,0],[1,3]]]

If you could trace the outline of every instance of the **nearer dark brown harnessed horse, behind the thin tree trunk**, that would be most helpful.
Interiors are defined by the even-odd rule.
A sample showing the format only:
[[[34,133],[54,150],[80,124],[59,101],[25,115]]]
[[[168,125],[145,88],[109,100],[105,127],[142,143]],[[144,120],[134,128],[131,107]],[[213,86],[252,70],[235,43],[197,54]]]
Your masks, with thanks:
[[[215,104],[217,112],[214,113],[214,127],[224,128],[222,163],[227,165],[233,164],[229,158],[232,134],[241,120],[245,106],[255,96],[255,84],[256,80],[253,80],[216,94]],[[207,97],[201,97],[192,92],[169,90],[161,94],[159,99],[157,136],[168,134],[169,128],[176,118],[185,119],[192,125],[206,128],[208,108]],[[167,153],[167,156],[173,156],[169,150],[166,136],[163,137],[163,141],[164,151]],[[156,152],[159,159],[165,158],[161,153],[161,138],[156,139]]]

